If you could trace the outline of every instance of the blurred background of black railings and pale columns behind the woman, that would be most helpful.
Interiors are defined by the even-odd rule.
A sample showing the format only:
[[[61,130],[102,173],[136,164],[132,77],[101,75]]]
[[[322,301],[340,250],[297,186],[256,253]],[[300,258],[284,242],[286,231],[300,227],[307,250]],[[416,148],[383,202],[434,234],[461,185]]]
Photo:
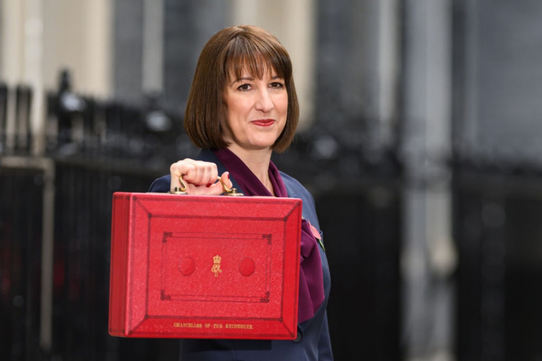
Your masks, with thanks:
[[[113,192],[196,149],[199,52],[285,45],[337,360],[542,360],[542,2],[0,0],[0,359],[175,360],[108,336]],[[538,286],[537,286],[538,285]]]

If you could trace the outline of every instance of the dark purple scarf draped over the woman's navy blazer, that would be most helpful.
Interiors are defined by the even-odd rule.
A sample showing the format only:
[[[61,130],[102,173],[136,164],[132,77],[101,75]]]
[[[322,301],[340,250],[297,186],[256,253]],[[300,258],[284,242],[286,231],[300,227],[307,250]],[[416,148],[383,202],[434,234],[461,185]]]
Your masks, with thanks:
[[[214,152],[230,175],[236,180],[245,195],[273,196],[251,170],[231,150],[223,148]],[[287,197],[286,186],[282,181],[279,169],[269,163],[269,180],[278,197]],[[309,222],[301,220],[301,256],[299,269],[299,307],[298,323],[314,316],[324,301],[324,276],[322,260],[313,230]],[[315,229],[315,228],[314,228]]]

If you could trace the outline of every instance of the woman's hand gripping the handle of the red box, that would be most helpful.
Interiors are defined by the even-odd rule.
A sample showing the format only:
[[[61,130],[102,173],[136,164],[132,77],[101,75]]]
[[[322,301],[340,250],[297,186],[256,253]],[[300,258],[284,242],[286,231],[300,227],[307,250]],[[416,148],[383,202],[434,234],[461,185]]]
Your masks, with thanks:
[[[222,183],[217,182],[218,170],[215,163],[186,158],[173,163],[170,167],[170,174],[171,191],[175,187],[180,187],[179,176],[183,175],[188,194],[219,195],[224,193]],[[220,178],[228,188],[233,187],[229,172],[224,172]]]

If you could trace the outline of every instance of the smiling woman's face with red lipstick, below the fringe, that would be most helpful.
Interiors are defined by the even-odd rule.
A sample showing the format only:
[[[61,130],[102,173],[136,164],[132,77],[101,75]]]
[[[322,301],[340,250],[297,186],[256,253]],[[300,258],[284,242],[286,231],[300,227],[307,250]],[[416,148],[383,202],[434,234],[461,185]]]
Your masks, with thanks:
[[[288,93],[284,79],[266,71],[261,79],[243,70],[226,85],[224,139],[243,149],[268,149],[286,125]]]

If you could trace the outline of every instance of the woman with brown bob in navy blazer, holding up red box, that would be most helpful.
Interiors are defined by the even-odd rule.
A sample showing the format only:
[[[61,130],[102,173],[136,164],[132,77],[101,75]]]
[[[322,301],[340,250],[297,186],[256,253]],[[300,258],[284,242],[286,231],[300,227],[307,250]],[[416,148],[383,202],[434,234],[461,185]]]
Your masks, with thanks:
[[[199,56],[184,126],[201,152],[173,163],[150,192],[180,187],[189,194],[221,194],[221,182],[245,195],[303,200],[298,338],[291,340],[181,341],[180,360],[332,360],[326,306],[330,275],[318,231],[314,200],[301,184],[276,168],[273,151],[292,142],[299,118],[292,63],[269,32],[243,25],[210,38]]]

